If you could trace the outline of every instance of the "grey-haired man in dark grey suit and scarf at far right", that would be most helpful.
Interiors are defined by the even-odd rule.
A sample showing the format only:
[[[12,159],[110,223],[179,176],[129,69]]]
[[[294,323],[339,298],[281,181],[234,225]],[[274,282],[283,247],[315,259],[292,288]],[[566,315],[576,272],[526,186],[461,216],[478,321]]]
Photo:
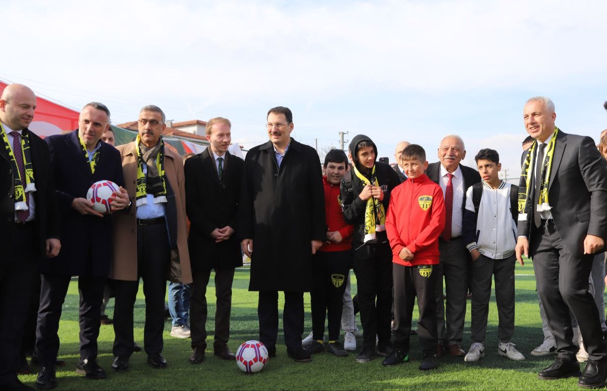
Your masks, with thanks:
[[[578,386],[603,387],[607,344],[588,277],[607,235],[607,167],[590,137],[564,133],[555,127],[556,117],[546,97],[532,97],[523,109],[535,142],[523,153],[516,253],[519,261],[521,254],[533,259],[537,292],[557,347],[557,359],[538,378],[580,374],[571,309],[588,352]]]

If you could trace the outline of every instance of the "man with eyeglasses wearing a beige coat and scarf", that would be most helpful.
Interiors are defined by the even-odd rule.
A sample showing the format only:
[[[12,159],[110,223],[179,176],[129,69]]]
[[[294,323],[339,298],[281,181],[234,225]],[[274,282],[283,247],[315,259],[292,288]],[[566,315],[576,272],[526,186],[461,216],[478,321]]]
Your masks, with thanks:
[[[114,228],[110,278],[115,280],[115,370],[126,370],[134,351],[133,307],[139,278],[146,296],[144,349],[148,364],[154,368],[167,365],[161,354],[166,280],[192,282],[183,160],[165,148],[161,137],[166,128],[164,119],[159,107],[143,107],[137,138],[118,146],[132,208],[116,219]]]

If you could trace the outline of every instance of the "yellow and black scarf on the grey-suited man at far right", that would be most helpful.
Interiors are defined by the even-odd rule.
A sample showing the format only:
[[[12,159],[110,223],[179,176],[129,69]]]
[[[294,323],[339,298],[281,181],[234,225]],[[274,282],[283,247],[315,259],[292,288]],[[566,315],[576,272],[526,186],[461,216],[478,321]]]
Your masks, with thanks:
[[[537,208],[538,212],[549,211],[551,209],[550,203],[548,202],[548,182],[550,181],[550,173],[552,171],[552,160],[554,158],[554,148],[557,145],[557,136],[558,136],[558,128],[554,128],[554,133],[552,133],[551,139],[548,142],[548,150],[546,150],[546,156],[544,157],[543,166],[541,168],[541,187],[540,187],[540,195],[537,198],[538,202],[535,208]],[[521,180],[519,183],[519,193],[518,193],[518,220],[524,221],[527,220],[526,211],[533,212],[534,210],[527,207],[527,201],[529,199],[529,187],[531,186],[531,179],[534,176],[534,162],[535,155],[538,150],[538,142],[534,140],[529,147],[529,151],[527,151],[527,156],[525,156],[523,167],[521,168]],[[535,180],[538,180],[536,178]],[[533,202],[533,201],[531,201]]]

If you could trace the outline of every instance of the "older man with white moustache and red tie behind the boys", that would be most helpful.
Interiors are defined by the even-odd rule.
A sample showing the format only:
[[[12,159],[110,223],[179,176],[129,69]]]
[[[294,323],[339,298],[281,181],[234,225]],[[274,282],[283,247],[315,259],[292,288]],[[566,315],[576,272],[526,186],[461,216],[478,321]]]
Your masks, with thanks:
[[[463,211],[466,206],[466,189],[481,176],[476,169],[461,165],[466,157],[464,141],[459,136],[443,137],[438,147],[440,162],[428,165],[426,175],[443,189],[445,196],[446,222],[438,240],[441,252],[439,275],[436,283],[436,317],[438,318],[438,347],[436,355],[442,356],[444,348],[452,356],[464,356],[461,340],[464,335],[466,317],[466,294],[468,291],[468,265],[472,261],[461,238]],[[447,306],[443,303],[443,275]]]

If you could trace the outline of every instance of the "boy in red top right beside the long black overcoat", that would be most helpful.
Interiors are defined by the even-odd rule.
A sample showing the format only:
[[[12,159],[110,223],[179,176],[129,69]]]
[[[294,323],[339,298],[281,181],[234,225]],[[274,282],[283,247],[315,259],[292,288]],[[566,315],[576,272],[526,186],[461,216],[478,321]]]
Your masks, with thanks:
[[[325,215],[327,240],[313,258],[313,281],[310,292],[312,309],[313,341],[304,349],[310,353],[325,350],[325,315],[328,315],[329,339],[327,352],[347,356],[339,343],[339,329],[346,287],[346,278],[352,263],[352,232],[354,227],[344,222],[339,188],[348,167],[348,159],[342,150],[330,150],[325,157],[325,173],[322,178],[325,189]]]

